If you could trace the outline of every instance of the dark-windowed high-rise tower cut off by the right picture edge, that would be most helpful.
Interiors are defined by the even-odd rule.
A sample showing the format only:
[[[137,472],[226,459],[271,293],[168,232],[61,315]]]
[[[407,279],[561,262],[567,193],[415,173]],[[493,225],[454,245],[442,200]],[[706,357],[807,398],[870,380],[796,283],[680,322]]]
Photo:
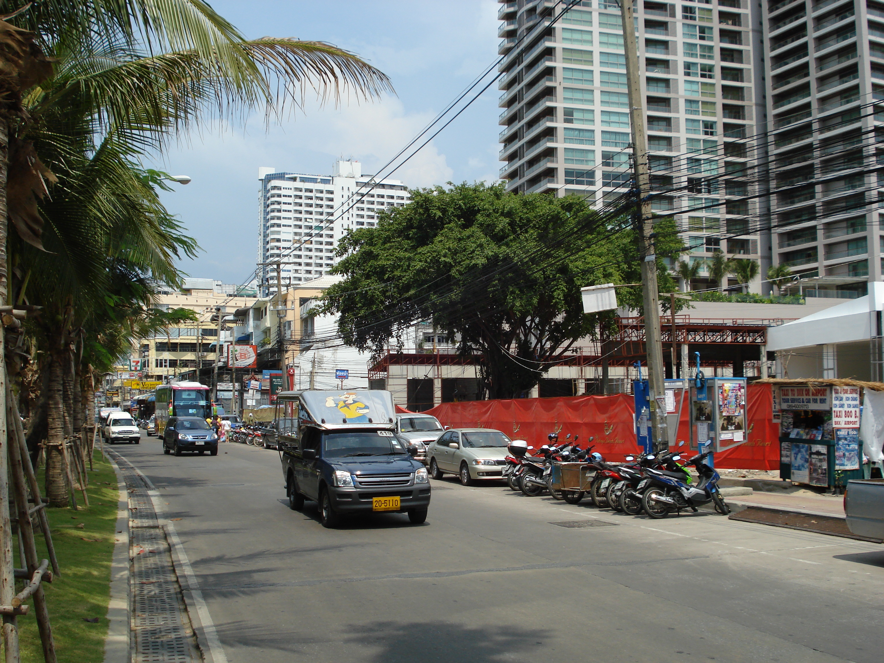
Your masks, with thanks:
[[[764,5],[774,260],[861,296],[884,269],[884,3]]]

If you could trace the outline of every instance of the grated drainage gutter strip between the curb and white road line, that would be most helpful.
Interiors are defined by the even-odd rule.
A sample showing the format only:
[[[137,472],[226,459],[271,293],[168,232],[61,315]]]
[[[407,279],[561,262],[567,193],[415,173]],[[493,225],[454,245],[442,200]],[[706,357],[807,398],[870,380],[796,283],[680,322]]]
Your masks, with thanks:
[[[132,663],[196,663],[194,629],[187,615],[165,531],[156,521],[149,485],[109,450],[129,498],[129,582]]]

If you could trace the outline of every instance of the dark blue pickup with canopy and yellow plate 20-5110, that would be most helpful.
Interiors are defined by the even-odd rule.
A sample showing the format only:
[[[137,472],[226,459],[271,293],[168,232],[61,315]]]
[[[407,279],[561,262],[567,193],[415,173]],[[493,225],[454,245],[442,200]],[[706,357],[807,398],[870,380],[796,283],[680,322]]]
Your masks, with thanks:
[[[279,392],[277,401],[278,421],[288,423],[277,440],[293,509],[315,501],[330,528],[344,514],[384,511],[426,521],[429,476],[395,432],[390,392]]]

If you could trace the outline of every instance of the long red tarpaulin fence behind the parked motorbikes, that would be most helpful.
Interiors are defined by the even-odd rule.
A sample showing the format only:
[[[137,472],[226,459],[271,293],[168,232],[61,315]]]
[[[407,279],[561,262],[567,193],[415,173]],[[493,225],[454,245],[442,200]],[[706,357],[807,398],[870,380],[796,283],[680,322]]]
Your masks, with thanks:
[[[779,425],[771,421],[770,385],[749,385],[746,394],[745,443],[715,454],[715,466],[721,469],[779,469]],[[398,408],[397,408],[398,409]],[[546,436],[560,429],[560,439],[567,433],[579,435],[581,446],[592,442],[596,451],[609,461],[637,453],[635,400],[631,395],[576,396],[571,398],[469,400],[442,403],[425,414],[435,415],[452,428],[494,428],[510,438],[526,439],[535,447],[546,443]],[[682,410],[675,441],[690,440],[687,403]]]

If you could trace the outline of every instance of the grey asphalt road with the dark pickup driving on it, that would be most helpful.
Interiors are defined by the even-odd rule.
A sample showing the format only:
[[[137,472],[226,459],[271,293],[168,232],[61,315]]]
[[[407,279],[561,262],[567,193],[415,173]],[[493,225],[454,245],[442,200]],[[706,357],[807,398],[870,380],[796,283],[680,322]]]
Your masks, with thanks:
[[[434,481],[430,516],[325,530],[275,451],[114,447],[150,478],[231,663],[880,663],[884,546]],[[179,520],[178,520],[179,519]],[[556,523],[590,522],[568,528]]]

